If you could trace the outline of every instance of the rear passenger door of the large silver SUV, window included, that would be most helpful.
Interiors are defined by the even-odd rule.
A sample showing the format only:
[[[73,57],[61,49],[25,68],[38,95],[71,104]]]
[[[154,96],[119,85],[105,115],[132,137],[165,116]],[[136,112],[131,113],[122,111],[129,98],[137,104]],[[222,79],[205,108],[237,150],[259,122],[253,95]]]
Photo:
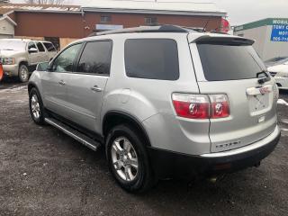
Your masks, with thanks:
[[[78,59],[76,73],[69,76],[67,81],[68,119],[98,133],[111,55],[111,40],[86,42]]]

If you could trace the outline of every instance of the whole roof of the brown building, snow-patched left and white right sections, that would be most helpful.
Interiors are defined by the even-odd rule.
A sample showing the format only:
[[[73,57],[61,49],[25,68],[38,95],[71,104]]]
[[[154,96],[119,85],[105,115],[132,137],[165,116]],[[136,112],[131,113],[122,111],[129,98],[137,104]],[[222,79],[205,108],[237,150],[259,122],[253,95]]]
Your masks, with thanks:
[[[132,14],[183,14],[183,15],[211,15],[225,16],[214,3],[200,2],[148,2],[100,0],[91,1],[84,6],[56,5],[56,4],[0,4],[0,14],[10,14],[14,11],[81,13],[81,11],[104,13],[132,13]]]

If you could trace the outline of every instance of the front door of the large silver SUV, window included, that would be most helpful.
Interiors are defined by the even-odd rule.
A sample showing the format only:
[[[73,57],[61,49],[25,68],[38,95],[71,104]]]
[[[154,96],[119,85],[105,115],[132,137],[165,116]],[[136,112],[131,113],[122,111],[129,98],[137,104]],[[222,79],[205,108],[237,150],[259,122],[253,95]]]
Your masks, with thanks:
[[[77,43],[60,52],[41,79],[45,107],[63,117],[67,117],[67,81],[82,45]]]

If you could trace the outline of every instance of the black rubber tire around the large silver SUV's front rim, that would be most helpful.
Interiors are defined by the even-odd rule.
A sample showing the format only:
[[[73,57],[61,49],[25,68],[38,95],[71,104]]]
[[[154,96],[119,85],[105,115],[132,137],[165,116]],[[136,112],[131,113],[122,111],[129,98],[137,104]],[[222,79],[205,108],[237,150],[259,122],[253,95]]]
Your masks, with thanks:
[[[37,117],[36,114],[34,114],[33,112],[33,108],[32,105],[35,105],[33,99],[35,99],[35,97],[38,100],[38,104],[39,104],[39,116]],[[34,104],[33,104],[34,103]],[[39,125],[44,125],[45,124],[45,109],[42,103],[42,99],[40,97],[40,94],[37,90],[37,88],[32,88],[30,93],[29,93],[29,108],[30,108],[30,114],[31,114],[31,118],[32,120]]]

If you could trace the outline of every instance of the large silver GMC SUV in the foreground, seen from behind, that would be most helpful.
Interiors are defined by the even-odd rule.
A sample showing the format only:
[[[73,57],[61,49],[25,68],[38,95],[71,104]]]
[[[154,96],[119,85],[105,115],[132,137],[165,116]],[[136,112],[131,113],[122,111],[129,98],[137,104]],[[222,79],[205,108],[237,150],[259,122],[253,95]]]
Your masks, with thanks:
[[[77,40],[32,74],[31,117],[105,148],[130,192],[258,166],[280,130],[278,89],[253,42],[170,25]]]

